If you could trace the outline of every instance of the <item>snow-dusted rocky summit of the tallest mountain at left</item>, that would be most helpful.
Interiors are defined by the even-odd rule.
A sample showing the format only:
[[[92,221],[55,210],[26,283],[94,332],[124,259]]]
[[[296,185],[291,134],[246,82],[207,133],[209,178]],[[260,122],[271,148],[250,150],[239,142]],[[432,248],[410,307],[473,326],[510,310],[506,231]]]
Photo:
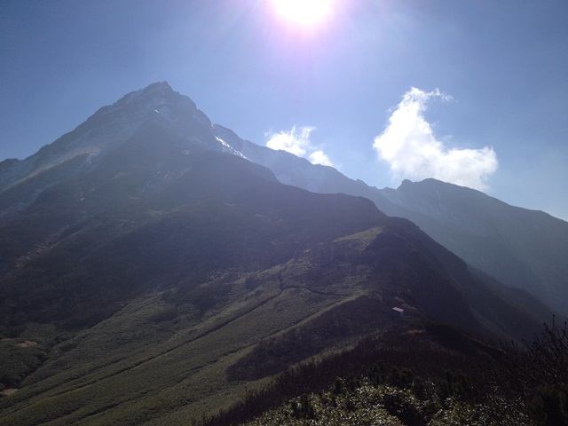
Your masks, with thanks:
[[[201,146],[221,150],[213,126],[192,99],[173,91],[167,82],[152,83],[124,95],[112,105],[99,108],[79,124],[36,154],[23,161],[3,162],[0,188],[20,178],[43,173],[69,160],[83,157],[85,167],[105,157],[130,138],[145,135],[150,128],[165,131],[185,150]],[[33,200],[34,197],[30,198]]]

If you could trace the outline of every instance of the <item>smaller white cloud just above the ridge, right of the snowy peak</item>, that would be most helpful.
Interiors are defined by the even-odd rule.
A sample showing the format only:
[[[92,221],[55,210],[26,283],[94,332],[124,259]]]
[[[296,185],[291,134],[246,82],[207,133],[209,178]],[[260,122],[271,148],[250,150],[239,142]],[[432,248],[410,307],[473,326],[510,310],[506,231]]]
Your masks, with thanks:
[[[266,146],[272,149],[281,149],[304,157],[314,164],[322,164],[324,166],[333,166],[327,154],[325,154],[320,146],[313,146],[310,141],[310,133],[315,130],[315,127],[300,127],[296,126],[290,131],[280,131],[280,133],[267,133],[269,138]]]

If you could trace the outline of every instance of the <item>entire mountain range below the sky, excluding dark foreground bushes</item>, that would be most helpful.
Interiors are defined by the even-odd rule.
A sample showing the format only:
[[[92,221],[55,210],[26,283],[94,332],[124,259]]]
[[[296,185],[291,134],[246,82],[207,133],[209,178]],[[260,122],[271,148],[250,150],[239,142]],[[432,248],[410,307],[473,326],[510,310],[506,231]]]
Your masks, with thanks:
[[[6,425],[187,424],[388,330],[520,340],[566,313],[565,222],[434,180],[377,190],[167,83],[1,162],[0,248]]]

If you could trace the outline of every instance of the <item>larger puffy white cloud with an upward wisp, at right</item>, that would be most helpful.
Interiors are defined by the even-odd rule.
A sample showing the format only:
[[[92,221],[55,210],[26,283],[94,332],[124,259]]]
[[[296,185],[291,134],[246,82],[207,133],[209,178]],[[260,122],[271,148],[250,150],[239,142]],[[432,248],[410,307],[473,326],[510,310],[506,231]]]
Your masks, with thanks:
[[[497,170],[493,148],[448,148],[435,136],[423,112],[432,98],[449,99],[437,91],[407,91],[392,112],[386,129],[375,138],[379,158],[389,162],[393,177],[422,180],[434,177],[456,185],[485,190]]]

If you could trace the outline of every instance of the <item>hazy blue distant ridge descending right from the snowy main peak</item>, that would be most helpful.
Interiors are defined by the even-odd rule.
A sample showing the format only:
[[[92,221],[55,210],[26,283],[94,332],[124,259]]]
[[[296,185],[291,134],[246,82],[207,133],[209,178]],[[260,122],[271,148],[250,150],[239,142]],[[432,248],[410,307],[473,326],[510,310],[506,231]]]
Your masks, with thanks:
[[[477,269],[568,315],[568,223],[563,220],[435,179],[377,189],[333,168],[243,141],[221,126],[215,130],[240,154],[271,169],[280,182],[317,193],[364,196],[387,215],[410,219]]]

